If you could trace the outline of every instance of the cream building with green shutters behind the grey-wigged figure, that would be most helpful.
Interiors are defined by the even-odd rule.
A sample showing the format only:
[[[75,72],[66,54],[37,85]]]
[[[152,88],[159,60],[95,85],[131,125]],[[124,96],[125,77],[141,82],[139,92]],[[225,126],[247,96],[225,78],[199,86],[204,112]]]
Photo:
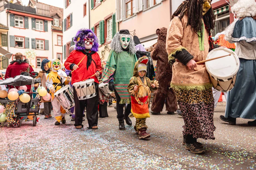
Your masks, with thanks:
[[[99,54],[102,61],[108,59],[110,43],[118,30],[116,24],[116,0],[90,1],[90,27],[99,39]]]

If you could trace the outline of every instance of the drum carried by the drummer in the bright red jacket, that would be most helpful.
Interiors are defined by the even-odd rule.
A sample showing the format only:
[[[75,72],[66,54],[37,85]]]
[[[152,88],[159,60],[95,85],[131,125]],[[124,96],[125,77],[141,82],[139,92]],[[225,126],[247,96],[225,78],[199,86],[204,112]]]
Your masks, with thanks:
[[[76,82],[73,84],[79,100],[85,100],[96,96],[94,79]]]

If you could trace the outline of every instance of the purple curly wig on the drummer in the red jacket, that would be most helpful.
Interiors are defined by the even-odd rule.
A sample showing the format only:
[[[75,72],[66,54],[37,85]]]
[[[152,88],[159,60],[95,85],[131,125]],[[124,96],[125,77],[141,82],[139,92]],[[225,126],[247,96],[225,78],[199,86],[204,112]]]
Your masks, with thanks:
[[[84,38],[88,33],[93,33],[93,32],[92,30],[86,29],[86,28],[82,28],[77,31],[77,34],[73,39],[73,41],[76,43],[75,50],[79,50],[79,51],[86,50],[84,46]],[[93,41],[94,44],[92,46],[91,51],[97,52],[99,50],[98,38],[94,33],[93,35],[94,35],[94,41]]]

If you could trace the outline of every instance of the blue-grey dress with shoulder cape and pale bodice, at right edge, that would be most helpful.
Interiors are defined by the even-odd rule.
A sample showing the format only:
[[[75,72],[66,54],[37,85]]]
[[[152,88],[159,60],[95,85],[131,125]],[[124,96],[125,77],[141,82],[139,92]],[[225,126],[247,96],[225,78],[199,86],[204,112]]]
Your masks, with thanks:
[[[256,119],[256,20],[238,20],[230,42],[240,60],[236,84],[228,92],[225,117]]]

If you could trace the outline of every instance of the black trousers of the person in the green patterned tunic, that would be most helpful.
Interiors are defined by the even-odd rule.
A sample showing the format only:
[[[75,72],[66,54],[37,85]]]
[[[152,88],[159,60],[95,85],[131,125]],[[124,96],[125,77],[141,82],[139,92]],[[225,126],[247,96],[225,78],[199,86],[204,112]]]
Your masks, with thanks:
[[[131,113],[131,103],[125,107],[125,112],[123,113],[123,104],[119,104],[119,102],[121,101],[121,98],[115,89],[114,89],[114,92],[116,97],[117,118],[120,120],[121,119],[123,120],[124,115],[128,116]]]

